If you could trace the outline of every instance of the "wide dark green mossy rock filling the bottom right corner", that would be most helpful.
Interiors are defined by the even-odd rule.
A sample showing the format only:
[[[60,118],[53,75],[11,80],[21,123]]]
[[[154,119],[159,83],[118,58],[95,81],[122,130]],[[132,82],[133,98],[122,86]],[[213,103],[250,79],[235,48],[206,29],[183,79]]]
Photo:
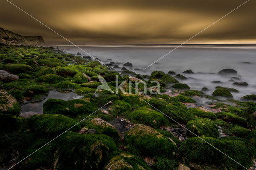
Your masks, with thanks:
[[[216,148],[218,148],[218,150]],[[182,142],[180,146],[180,156],[184,156],[188,162],[214,164],[221,169],[224,167],[243,169],[243,167],[236,164],[234,160],[249,168],[253,164],[252,158],[255,156],[255,149],[256,148],[252,146],[248,140],[234,136],[220,139],[212,137],[193,137]],[[234,160],[228,158],[219,150]]]

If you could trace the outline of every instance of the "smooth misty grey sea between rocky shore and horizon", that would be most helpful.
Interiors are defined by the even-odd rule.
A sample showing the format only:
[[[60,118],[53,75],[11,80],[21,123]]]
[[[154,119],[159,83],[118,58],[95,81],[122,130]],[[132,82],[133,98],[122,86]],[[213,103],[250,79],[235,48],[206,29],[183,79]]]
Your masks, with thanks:
[[[191,45],[177,48],[166,57],[160,59],[144,71],[145,67],[171,51],[176,45],[82,45],[79,46],[84,51],[72,45],[54,45],[67,53],[76,55],[80,52],[94,57],[98,57],[103,63],[130,62],[133,65],[131,71],[139,74],[150,75],[152,71],[160,70],[167,73],[170,70],[188,77],[187,80],[179,80],[186,83],[191,89],[201,90],[208,87],[205,92],[211,95],[216,86],[235,88],[239,93],[231,92],[234,99],[240,99],[244,95],[256,94],[256,45]],[[221,76],[217,73],[226,68],[235,69],[238,76]],[[135,69],[135,70],[134,70]],[[140,70],[138,70],[140,69]],[[195,74],[182,73],[192,69]],[[118,69],[117,69],[118,71]],[[232,78],[233,77],[233,78]],[[236,78],[239,79],[236,79]],[[248,86],[235,86],[233,79],[237,82],[247,82]],[[221,81],[222,83],[212,83]]]

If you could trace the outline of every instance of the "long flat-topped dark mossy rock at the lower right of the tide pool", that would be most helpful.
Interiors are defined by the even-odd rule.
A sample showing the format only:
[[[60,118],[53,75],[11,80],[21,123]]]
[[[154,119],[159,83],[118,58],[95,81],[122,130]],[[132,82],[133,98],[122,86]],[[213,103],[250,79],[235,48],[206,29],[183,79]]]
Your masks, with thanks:
[[[61,99],[48,99],[44,105],[44,114],[61,114],[65,116],[90,115],[96,111],[87,99],[73,99],[64,101]]]

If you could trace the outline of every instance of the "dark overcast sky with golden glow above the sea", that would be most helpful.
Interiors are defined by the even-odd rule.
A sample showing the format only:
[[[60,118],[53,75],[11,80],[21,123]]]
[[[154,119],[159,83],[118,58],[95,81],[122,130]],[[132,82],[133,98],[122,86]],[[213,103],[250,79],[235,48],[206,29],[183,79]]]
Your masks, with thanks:
[[[75,44],[180,44],[246,0],[9,0]],[[0,27],[68,44],[6,0]],[[250,0],[187,43],[256,43]]]

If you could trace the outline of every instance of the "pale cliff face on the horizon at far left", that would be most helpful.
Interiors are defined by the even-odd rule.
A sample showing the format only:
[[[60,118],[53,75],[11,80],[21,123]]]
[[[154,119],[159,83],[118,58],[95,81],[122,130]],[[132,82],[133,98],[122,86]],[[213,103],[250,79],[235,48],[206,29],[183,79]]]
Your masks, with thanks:
[[[41,36],[30,37],[21,36],[11,31],[0,28],[0,43],[16,45],[44,45],[44,39]]]

